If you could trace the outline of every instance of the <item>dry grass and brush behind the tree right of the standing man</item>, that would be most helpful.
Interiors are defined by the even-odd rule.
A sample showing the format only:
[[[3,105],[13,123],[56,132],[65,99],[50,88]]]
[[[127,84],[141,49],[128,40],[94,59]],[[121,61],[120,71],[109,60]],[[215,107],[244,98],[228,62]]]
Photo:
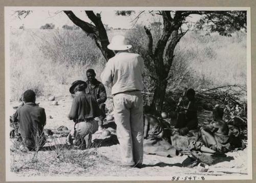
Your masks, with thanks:
[[[151,28],[153,51],[161,34],[160,27]],[[142,26],[127,32],[133,45],[132,52],[139,53],[145,60],[147,70],[144,84],[152,91],[151,76],[155,76],[152,59],[147,54],[148,38]],[[172,76],[167,90],[180,87],[196,89],[226,84],[246,85],[246,33],[236,32],[232,37],[217,33],[188,31],[177,44],[170,70]]]

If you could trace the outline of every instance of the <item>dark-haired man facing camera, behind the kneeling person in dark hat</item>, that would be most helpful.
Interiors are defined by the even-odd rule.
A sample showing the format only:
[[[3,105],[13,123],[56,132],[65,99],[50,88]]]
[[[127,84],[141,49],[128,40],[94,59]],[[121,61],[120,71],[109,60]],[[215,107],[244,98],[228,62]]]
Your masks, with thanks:
[[[104,85],[95,78],[96,73],[92,68],[86,71],[86,76],[88,79],[86,81],[87,83],[86,94],[92,95],[99,105],[101,115],[99,116],[98,130],[102,131],[102,121],[106,117],[105,104],[104,104],[104,102],[106,101],[106,90]]]

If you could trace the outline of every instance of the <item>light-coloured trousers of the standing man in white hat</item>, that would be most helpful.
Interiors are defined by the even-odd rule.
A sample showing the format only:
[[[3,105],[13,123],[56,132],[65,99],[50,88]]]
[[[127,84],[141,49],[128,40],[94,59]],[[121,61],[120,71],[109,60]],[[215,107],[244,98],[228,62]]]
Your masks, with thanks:
[[[140,91],[116,94],[113,97],[114,118],[123,165],[143,162],[143,97]]]

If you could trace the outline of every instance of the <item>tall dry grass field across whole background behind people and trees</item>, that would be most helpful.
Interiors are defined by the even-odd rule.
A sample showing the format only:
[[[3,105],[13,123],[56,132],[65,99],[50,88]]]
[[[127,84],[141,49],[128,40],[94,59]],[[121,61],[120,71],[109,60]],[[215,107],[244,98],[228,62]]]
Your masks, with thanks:
[[[154,45],[160,31],[152,28]],[[143,27],[130,31],[108,32],[109,39],[125,35],[150,65],[147,36]],[[26,89],[37,96],[52,93],[65,94],[61,85],[70,85],[76,79],[86,80],[86,70],[94,68],[96,78],[104,68],[105,60],[95,42],[82,30],[11,30],[10,69],[11,99],[16,100]],[[154,66],[145,71],[146,91],[152,91]],[[175,49],[172,78],[167,89],[187,86],[196,89],[226,84],[246,85],[246,34],[237,32],[232,37],[217,33],[189,31]]]

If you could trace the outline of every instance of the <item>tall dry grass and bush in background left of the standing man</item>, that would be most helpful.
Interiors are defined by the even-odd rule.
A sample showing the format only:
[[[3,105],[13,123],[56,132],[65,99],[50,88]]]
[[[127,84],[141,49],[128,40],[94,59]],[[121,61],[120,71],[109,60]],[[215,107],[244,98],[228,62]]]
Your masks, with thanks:
[[[105,60],[81,30],[12,30],[10,35],[11,100],[27,89],[37,96],[59,93],[56,85],[86,80],[93,67],[99,78]]]

